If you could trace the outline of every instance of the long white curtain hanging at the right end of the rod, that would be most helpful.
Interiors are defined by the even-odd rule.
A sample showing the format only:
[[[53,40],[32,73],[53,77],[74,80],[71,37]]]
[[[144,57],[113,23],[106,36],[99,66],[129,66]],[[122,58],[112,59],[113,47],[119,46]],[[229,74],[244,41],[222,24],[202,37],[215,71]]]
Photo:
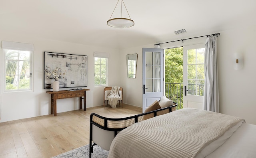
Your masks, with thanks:
[[[217,38],[207,37],[204,54],[204,101],[203,109],[219,113],[219,89],[217,69]]]

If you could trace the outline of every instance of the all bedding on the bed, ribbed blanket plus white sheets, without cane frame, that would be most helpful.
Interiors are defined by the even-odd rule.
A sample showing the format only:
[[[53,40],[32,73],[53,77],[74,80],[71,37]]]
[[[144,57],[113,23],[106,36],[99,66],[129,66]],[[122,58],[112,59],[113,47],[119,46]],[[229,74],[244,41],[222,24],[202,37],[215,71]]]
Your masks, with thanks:
[[[244,119],[185,108],[120,131],[108,158],[254,158],[256,125]]]

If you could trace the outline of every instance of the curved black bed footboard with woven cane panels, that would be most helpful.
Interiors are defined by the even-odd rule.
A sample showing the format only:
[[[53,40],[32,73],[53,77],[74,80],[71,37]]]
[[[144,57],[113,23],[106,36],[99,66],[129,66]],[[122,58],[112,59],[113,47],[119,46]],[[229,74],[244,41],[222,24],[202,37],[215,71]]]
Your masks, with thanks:
[[[144,116],[147,118],[156,117],[159,115],[163,115],[166,113],[170,113],[176,110],[177,103],[173,103],[174,105],[162,109],[158,109],[155,111],[150,111],[147,113],[141,113],[138,115],[134,115],[131,117],[125,118],[107,118],[92,113],[90,115],[90,155],[92,157],[93,146],[98,145],[105,150],[109,150],[110,144],[114,137],[121,130],[126,127],[144,120]],[[93,144],[92,144],[93,142]]]

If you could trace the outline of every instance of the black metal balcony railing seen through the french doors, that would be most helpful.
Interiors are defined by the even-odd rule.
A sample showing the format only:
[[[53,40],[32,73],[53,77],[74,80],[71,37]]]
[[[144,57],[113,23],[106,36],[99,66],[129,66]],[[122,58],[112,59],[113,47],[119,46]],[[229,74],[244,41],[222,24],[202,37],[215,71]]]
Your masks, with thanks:
[[[190,95],[204,95],[204,85],[188,84],[188,94]],[[176,109],[183,108],[183,83],[165,83],[165,96],[178,103]]]

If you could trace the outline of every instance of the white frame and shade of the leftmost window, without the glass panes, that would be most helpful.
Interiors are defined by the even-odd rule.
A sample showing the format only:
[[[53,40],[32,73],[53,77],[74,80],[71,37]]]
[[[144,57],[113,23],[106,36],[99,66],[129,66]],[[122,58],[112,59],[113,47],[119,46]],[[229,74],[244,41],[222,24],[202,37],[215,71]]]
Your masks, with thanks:
[[[32,91],[32,83],[33,83],[33,79],[32,79],[32,54],[34,51],[34,45],[33,44],[28,44],[28,43],[18,43],[18,42],[11,42],[11,41],[2,41],[2,51],[3,51],[3,55],[2,55],[2,61],[3,61],[3,68],[2,68],[2,72],[3,72],[3,91],[4,92],[16,92],[16,91]],[[29,88],[28,89],[6,89],[6,53],[4,50],[15,50],[15,51],[29,51],[30,52],[30,59],[29,59],[29,74],[25,74],[26,77],[30,77],[29,79]],[[14,59],[16,60],[16,59]],[[22,61],[17,59],[17,61]],[[18,74],[20,75],[20,74]]]

